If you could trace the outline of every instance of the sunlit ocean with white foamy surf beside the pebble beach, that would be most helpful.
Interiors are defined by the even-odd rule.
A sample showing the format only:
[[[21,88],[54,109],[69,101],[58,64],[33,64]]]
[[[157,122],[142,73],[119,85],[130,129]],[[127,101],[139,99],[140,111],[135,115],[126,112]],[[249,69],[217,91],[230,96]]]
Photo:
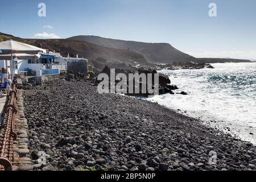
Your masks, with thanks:
[[[147,98],[256,144],[256,63],[216,63],[214,69],[159,71],[185,91]]]

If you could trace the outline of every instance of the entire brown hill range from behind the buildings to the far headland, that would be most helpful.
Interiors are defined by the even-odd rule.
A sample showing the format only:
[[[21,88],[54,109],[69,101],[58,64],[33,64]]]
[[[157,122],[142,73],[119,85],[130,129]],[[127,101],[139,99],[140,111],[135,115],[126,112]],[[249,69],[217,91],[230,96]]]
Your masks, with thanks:
[[[114,64],[148,64],[148,57],[151,57],[151,63],[154,62],[153,64],[187,63],[188,61],[196,61],[199,63],[251,62],[250,60],[241,59],[196,58],[177,50],[168,43],[143,43],[132,40],[101,38],[100,36],[93,35],[86,37],[89,37],[90,39],[96,38],[96,40],[88,40],[89,42],[85,40],[77,40],[80,39],[81,36],[75,36],[68,39],[23,39],[0,32],[0,42],[13,39],[37,47],[40,47],[42,44],[43,48],[47,48],[50,51],[60,52],[63,56],[67,56],[69,53],[69,55],[73,57],[77,54],[81,57],[86,57],[88,60],[94,61],[94,63],[100,65],[100,68],[107,65],[107,62],[112,64],[113,67]],[[82,38],[84,38],[84,36],[82,36]],[[102,43],[102,39],[108,40],[108,42],[104,41]],[[123,42],[129,44],[123,44]],[[109,46],[109,44],[112,44],[112,46]],[[142,47],[143,45],[146,46]],[[172,54],[172,51],[174,51],[174,54]]]

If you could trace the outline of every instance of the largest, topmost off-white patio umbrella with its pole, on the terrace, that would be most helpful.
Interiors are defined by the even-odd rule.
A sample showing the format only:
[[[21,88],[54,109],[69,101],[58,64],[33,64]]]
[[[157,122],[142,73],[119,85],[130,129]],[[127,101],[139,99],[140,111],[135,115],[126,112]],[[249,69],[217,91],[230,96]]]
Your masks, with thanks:
[[[10,65],[11,65],[11,78],[14,78],[14,64],[13,64],[13,56],[14,53],[26,53],[35,55],[39,52],[46,52],[46,49],[42,49],[39,47],[31,46],[28,44],[24,44],[21,42],[16,42],[14,40],[7,40],[5,42],[0,43],[0,55],[10,55]]]

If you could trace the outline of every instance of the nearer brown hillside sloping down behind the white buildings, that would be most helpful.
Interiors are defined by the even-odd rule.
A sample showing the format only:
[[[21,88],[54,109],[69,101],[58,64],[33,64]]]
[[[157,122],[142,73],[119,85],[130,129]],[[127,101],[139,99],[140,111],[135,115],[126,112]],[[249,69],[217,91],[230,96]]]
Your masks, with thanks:
[[[86,57],[89,60],[101,58],[101,60],[105,59],[110,63],[147,63],[142,55],[127,49],[114,49],[89,42],[67,39],[22,39],[0,33],[0,42],[10,39],[37,47],[40,47],[42,44],[42,48],[60,52],[63,56],[67,56],[69,53],[71,56],[79,55],[79,57]]]

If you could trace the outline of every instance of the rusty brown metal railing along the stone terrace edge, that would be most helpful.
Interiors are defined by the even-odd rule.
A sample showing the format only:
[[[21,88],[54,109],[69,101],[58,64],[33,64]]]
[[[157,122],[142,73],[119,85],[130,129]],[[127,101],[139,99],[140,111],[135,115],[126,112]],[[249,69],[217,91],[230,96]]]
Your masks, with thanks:
[[[17,138],[15,129],[15,114],[16,110],[16,95],[17,95],[17,77],[14,77],[11,84],[9,99],[4,107],[5,117],[3,119],[3,134],[0,138],[0,166],[2,165],[6,171],[13,169],[12,163],[14,160],[13,142]]]

